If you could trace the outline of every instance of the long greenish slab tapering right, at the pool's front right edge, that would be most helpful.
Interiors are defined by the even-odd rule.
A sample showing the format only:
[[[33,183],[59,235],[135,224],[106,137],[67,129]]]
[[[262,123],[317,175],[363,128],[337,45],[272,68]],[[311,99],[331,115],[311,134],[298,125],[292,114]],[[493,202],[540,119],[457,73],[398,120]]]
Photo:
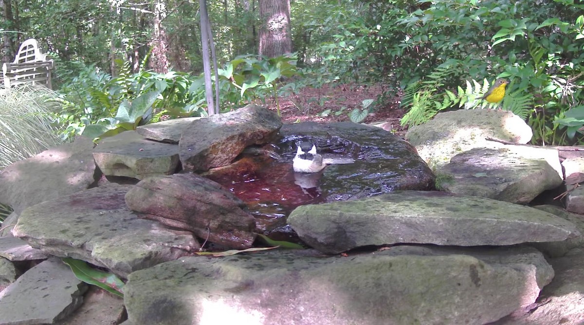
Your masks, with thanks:
[[[531,207],[413,190],[300,206],[288,224],[312,248],[332,254],[367,245],[513,245],[579,235],[571,222]]]

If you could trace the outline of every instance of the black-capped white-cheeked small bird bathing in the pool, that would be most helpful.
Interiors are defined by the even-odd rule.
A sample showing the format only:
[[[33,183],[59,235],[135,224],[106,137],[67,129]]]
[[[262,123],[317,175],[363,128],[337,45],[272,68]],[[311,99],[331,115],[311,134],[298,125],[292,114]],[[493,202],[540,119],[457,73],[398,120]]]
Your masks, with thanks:
[[[292,160],[295,172],[319,172],[331,164],[352,164],[353,158],[324,158],[310,142],[297,143],[296,156]]]

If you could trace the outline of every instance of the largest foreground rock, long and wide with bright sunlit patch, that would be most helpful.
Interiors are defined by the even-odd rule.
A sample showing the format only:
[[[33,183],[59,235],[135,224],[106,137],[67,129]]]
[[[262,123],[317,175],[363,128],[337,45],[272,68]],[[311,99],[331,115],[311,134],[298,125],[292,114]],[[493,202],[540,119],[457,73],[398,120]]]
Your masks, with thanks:
[[[483,324],[553,277],[537,250],[477,250],[186,257],[130,274],[127,324]]]

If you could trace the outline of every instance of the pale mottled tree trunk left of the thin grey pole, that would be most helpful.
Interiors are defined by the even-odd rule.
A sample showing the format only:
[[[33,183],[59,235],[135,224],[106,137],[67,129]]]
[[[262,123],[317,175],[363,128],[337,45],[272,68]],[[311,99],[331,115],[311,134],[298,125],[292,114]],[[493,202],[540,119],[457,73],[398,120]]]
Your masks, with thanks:
[[[150,56],[150,68],[158,73],[168,72],[168,38],[162,27],[162,20],[166,17],[166,5],[163,0],[157,0],[154,5],[154,31],[152,32],[152,54]]]

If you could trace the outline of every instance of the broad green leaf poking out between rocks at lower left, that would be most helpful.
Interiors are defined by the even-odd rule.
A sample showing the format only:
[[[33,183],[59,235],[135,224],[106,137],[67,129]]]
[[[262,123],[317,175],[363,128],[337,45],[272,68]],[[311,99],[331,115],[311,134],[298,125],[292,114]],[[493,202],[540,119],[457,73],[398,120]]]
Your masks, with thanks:
[[[96,285],[114,295],[124,296],[123,289],[125,284],[115,274],[93,269],[82,260],[71,259],[70,257],[65,257],[62,260],[71,267],[71,271],[79,280]]]

